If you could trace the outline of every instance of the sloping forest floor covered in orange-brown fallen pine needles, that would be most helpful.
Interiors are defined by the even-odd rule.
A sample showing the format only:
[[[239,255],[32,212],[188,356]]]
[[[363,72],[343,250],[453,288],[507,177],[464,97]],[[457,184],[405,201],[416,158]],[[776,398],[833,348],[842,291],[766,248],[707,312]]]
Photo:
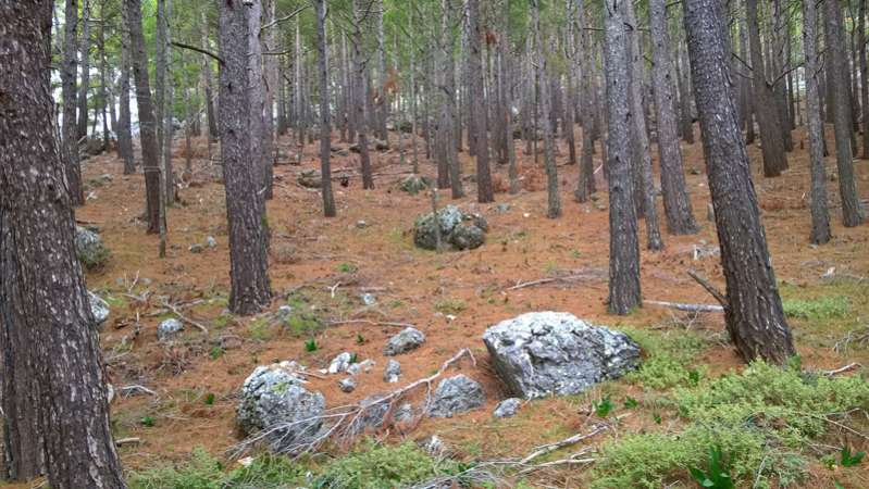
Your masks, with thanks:
[[[829,130],[828,134],[832,134]],[[535,447],[588,431],[595,410],[610,398],[618,406],[618,427],[583,443],[600,447],[630,432],[673,430],[681,424],[678,413],[659,411],[656,400],[667,397],[681,380],[659,388],[644,386],[642,377],[605,383],[584,396],[547,399],[526,403],[508,419],[494,419],[492,410],[507,397],[488,361],[481,339],[483,331],[499,321],[531,311],[564,311],[595,324],[637,331],[654,344],[685,344],[680,339],[696,339],[684,368],[696,384],[731,369],[743,362],[729,344],[720,313],[690,314],[656,305],[645,305],[619,317],[606,312],[608,276],[608,212],[605,184],[594,201],[579,204],[572,199],[578,167],[561,165],[563,215],[546,218],[545,178],[533,155],[517,153],[524,189],[516,196],[500,191],[496,203],[475,203],[475,184],[465,181],[468,197],[450,201],[440,192],[439,204],[456,203],[482,213],[491,230],[486,244],[473,251],[435,253],[414,248],[413,220],[431,211],[427,193],[411,196],[398,189],[409,174],[412,158],[405,140],[407,163],[399,164],[397,135],[393,149],[372,152],[375,190],[363,190],[357,171],[357,155],[333,153],[333,172],[348,175],[349,187],[335,185],[338,216],[321,215],[320,193],[297,184],[303,170],[319,168],[319,143],[305,146],[301,165],[290,165],[296,147],[289,138],[280,140],[280,165],[275,167],[274,199],[268,204],[272,230],[270,273],[275,300],[270,311],[291,304],[318,317],[319,323],[300,321],[283,327],[266,315],[236,317],[225,312],[228,298],[229,256],[224,206],[224,189],[211,175],[204,139],[194,141],[193,184],[179,190],[181,202],[169,210],[169,254],[158,259],[158,237],[146,235],[139,220],[145,202],[141,175],[122,175],[114,155],[95,156],[84,164],[88,184],[87,204],[76,212],[80,222],[99,227],[111,250],[108,263],[87,274],[91,290],[107,298],[112,314],[101,336],[111,383],[115,389],[141,385],[153,396],[119,392],[112,404],[116,438],[138,438],[124,444],[121,455],[131,471],[152,468],[183,461],[196,447],[226,460],[226,451],[239,441],[235,427],[237,392],[257,365],[296,360],[310,368],[325,367],[343,351],[358,359],[372,359],[376,366],[359,377],[351,393],[342,392],[339,376],[310,378],[310,388],[323,392],[330,406],[359,401],[374,393],[395,389],[382,379],[386,363],[383,346],[396,327],[364,323],[332,324],[348,319],[410,323],[423,330],[426,342],[402,355],[401,384],[432,375],[448,358],[470,348],[476,365],[463,362],[458,368],[479,380],[487,404],[451,419],[423,419],[406,432],[373,434],[377,439],[422,440],[437,434],[455,456],[482,461],[523,456]],[[578,139],[581,140],[581,139]],[[347,148],[347,143],[333,145]],[[795,131],[797,150],[790,154],[791,170],[779,178],[759,174],[759,147],[749,148],[755,188],[762,211],[772,263],[793,327],[802,365],[806,369],[835,369],[851,363],[862,366],[843,376],[866,375],[869,367],[869,226],[844,228],[839,209],[837,183],[829,183],[833,240],[814,247],[808,243],[809,211],[808,162],[805,135]],[[541,145],[541,151],[542,151]],[[420,150],[422,173],[434,167]],[[219,146],[213,147],[214,158]],[[695,247],[717,244],[713,223],[707,221],[709,191],[699,140],[683,145],[686,180],[694,214],[702,230],[694,236],[669,236],[663,229],[666,249],[642,251],[642,287],[646,300],[713,303],[712,298],[691,277],[697,269],[723,288],[717,256],[695,259]],[[178,141],[174,165],[184,165],[184,141]],[[460,153],[464,173],[473,173],[473,162]],[[561,143],[559,163],[567,160]],[[655,154],[657,165],[657,154]],[[835,173],[834,160],[827,160],[828,173]],[[599,166],[599,151],[595,166]],[[869,162],[855,161],[861,198],[869,196]],[[506,166],[495,165],[496,187],[505,190]],[[111,175],[111,179],[101,178]],[[337,181],[336,181],[337,184]],[[603,189],[603,190],[601,190]],[[509,210],[499,209],[508,203]],[[365,225],[361,226],[360,221]],[[645,242],[641,224],[641,243]],[[206,237],[216,238],[215,249],[188,251]],[[832,271],[824,277],[828,271]],[[829,276],[832,275],[832,278]],[[536,286],[511,289],[532,280],[557,278]],[[363,292],[376,303],[365,305]],[[206,327],[203,334],[185,325],[181,340],[171,344],[157,341],[160,321],[175,312]],[[318,327],[322,325],[322,327]],[[306,341],[315,338],[316,351],[307,351]],[[680,347],[681,348],[681,347]],[[699,374],[696,374],[699,373]],[[681,374],[676,374],[681,375]],[[622,400],[635,399],[637,406],[621,408]],[[866,428],[869,424],[864,423]],[[855,447],[866,449],[865,439],[837,432]],[[836,446],[832,443],[832,446]],[[568,456],[567,448],[545,460]],[[560,455],[560,456],[559,456]],[[232,466],[234,462],[227,462]],[[865,467],[865,465],[864,465]],[[685,473],[686,474],[686,473]],[[542,487],[584,487],[592,472],[556,466],[523,476],[525,484]],[[833,471],[818,460],[797,486],[869,487],[867,471]],[[683,484],[684,482],[683,479]],[[676,480],[678,482],[678,480]],[[507,484],[507,482],[505,482]]]

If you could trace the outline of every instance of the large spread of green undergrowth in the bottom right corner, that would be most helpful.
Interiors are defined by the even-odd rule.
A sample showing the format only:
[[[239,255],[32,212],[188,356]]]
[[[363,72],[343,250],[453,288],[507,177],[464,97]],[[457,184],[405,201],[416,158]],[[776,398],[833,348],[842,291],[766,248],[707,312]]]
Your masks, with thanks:
[[[869,409],[869,383],[827,378],[757,362],[744,372],[673,390],[666,402],[678,428],[622,436],[601,448],[595,488],[657,488],[690,480],[710,447],[728,454],[736,487],[794,487],[817,455],[807,449],[842,413]],[[857,426],[855,429],[866,429]]]

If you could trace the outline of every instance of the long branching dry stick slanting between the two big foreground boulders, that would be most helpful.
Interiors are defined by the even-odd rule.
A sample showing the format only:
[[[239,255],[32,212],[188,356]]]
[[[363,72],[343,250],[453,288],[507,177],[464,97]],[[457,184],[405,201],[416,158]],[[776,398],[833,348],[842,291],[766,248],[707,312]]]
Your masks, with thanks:
[[[347,404],[338,408],[333,408],[319,416],[308,417],[305,419],[297,419],[288,423],[278,423],[276,425],[270,426],[248,437],[247,439],[243,440],[241,442],[233,447],[231,449],[229,454],[234,459],[238,457],[243,453],[245,453],[249,448],[268,439],[272,435],[280,432],[288,432],[297,425],[307,426],[308,424],[318,421],[319,422],[335,421],[335,422],[328,429],[321,431],[321,434],[318,435],[316,438],[314,438],[313,440],[287,447],[284,451],[286,453],[291,453],[296,457],[298,457],[306,453],[312,453],[314,450],[320,448],[324,442],[331,439],[349,442],[363,430],[364,426],[362,425],[362,423],[360,423],[360,418],[362,417],[363,414],[370,412],[374,406],[386,404],[387,410],[386,413],[384,414],[383,421],[381,422],[381,424],[385,426],[389,423],[389,416],[395,405],[399,401],[401,401],[401,399],[404,399],[405,396],[414,391],[421,386],[426,387],[425,406],[427,409],[432,393],[432,384],[435,380],[437,380],[450,366],[458,363],[464,356],[470,358],[471,363],[474,366],[476,366],[476,359],[474,358],[474,354],[471,352],[471,350],[467,348],[461,349],[452,358],[444,362],[444,364],[440,365],[440,368],[435,374],[429,377],[424,377],[413,383],[410,383],[400,389],[394,390],[387,393],[386,396],[383,396],[378,399],[365,403],[365,405],[362,405],[361,403]],[[426,411],[426,409],[423,410],[423,413]]]

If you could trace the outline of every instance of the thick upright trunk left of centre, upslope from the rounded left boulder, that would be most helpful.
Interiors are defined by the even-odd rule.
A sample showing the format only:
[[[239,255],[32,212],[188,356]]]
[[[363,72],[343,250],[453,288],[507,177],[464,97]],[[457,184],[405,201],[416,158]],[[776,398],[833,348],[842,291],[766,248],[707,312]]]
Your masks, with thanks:
[[[258,136],[262,106],[252,100],[261,90],[261,73],[250,75],[252,45],[259,46],[260,0],[220,3],[221,159],[226,181],[226,217],[229,223],[229,310],[256,314],[271,301],[268,264],[268,223],[259,196],[262,167],[251,164],[260,155]],[[251,86],[251,84],[253,84]],[[259,161],[259,160],[255,160]]]

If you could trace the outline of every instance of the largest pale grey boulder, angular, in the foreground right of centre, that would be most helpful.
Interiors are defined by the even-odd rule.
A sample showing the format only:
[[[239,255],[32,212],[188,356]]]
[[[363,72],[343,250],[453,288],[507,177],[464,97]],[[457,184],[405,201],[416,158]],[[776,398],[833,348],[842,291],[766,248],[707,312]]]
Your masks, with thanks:
[[[483,334],[498,376],[516,396],[570,396],[637,366],[640,347],[623,333],[573,314],[535,312]]]

